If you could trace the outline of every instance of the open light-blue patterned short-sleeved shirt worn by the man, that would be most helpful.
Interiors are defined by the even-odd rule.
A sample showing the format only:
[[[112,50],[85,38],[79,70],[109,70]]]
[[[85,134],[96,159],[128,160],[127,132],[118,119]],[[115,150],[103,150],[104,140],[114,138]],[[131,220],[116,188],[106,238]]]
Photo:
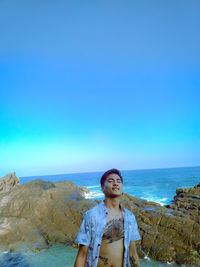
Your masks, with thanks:
[[[124,263],[123,267],[129,267],[129,244],[140,239],[135,216],[130,210],[120,206],[124,217]],[[88,254],[85,267],[96,267],[99,258],[102,236],[106,225],[108,210],[104,202],[88,210],[82,219],[82,224],[76,238],[76,242],[88,246]]]

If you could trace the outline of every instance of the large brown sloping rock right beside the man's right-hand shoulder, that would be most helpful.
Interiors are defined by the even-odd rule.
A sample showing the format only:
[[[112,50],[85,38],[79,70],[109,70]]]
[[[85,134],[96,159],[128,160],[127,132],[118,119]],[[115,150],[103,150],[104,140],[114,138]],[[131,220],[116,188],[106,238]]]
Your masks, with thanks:
[[[200,224],[183,211],[124,194],[122,204],[137,219],[140,257],[200,266]]]

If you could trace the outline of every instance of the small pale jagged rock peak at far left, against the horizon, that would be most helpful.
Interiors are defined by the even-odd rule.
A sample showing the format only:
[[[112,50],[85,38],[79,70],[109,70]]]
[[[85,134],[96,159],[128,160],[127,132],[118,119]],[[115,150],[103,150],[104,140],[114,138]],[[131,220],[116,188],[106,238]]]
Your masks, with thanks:
[[[19,178],[15,175],[15,172],[6,174],[0,178],[0,193],[7,193],[18,186]]]

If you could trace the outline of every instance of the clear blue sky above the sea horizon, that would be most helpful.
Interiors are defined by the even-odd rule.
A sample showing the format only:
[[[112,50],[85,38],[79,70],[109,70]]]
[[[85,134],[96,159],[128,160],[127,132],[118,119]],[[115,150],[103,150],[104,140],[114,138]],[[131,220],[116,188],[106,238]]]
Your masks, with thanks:
[[[199,1],[0,1],[0,176],[200,165]]]

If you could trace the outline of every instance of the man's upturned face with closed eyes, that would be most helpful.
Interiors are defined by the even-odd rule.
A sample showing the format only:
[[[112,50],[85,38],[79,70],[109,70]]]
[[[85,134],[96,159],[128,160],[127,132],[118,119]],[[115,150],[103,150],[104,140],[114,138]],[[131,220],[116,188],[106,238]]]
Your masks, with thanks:
[[[122,195],[123,184],[122,180],[116,173],[111,173],[107,176],[105,183],[102,187],[105,196],[118,197]]]

